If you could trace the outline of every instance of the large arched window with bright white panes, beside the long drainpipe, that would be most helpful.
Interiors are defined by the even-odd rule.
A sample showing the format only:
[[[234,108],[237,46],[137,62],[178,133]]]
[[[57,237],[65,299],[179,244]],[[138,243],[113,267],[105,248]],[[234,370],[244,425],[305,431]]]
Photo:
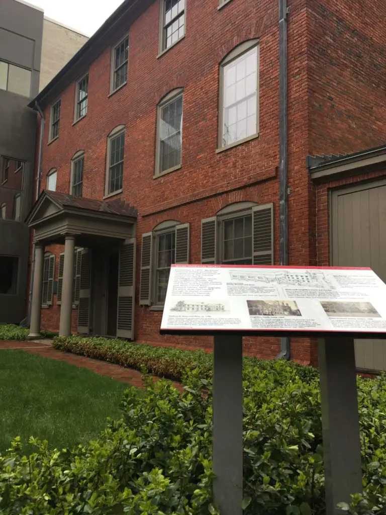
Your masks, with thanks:
[[[221,64],[219,148],[258,133],[258,44],[242,43]]]

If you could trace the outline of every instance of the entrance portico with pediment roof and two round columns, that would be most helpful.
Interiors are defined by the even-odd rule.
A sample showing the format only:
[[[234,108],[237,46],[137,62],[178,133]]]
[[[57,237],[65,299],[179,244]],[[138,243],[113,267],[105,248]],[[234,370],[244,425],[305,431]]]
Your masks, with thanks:
[[[115,293],[116,299],[110,299],[115,309],[109,310],[105,306],[109,319],[107,325],[112,327],[112,317],[115,316],[116,336],[133,339],[136,218],[135,208],[121,200],[106,202],[59,192],[41,193],[26,220],[34,229],[33,242],[36,245],[29,338],[40,336],[44,252],[48,245],[56,244],[64,245],[64,254],[59,260],[59,335],[71,334],[74,289],[79,306],[78,332],[90,332],[91,290],[92,285],[98,284],[98,280],[92,278],[93,251],[95,256],[109,255],[109,251],[114,251],[117,257],[113,270],[118,276],[115,289],[107,282],[105,290],[96,289],[96,294],[107,298],[109,293]],[[74,270],[77,280],[74,279]]]

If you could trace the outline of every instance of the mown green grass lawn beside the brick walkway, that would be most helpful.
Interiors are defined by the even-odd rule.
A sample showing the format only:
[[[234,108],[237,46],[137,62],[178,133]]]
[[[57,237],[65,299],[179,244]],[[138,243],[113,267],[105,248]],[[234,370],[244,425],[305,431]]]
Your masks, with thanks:
[[[120,416],[127,387],[55,359],[0,350],[0,453],[15,436],[60,449],[92,440],[107,417]]]

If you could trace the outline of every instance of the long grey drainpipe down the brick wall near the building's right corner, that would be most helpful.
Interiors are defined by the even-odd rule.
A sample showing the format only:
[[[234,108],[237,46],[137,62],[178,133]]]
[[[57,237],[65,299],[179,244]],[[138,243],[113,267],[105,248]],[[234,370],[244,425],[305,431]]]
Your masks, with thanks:
[[[280,265],[288,265],[288,97],[287,97],[287,0],[279,0],[279,208]],[[280,338],[275,359],[290,358],[290,339]]]

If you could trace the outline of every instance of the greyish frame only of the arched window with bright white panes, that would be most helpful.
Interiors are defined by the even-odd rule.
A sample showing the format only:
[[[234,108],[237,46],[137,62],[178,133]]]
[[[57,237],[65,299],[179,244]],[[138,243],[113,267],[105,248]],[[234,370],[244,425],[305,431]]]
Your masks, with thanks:
[[[223,125],[224,125],[224,72],[225,68],[236,59],[247,54],[256,47],[256,58],[257,58],[257,90],[256,90],[256,132],[250,134],[246,138],[242,138],[235,142],[224,145],[223,143]],[[221,62],[220,62],[220,88],[219,88],[219,109],[218,109],[218,141],[217,141],[217,152],[232,148],[237,145],[241,145],[247,141],[253,140],[259,135],[259,40],[244,41],[240,45],[236,46]]]

